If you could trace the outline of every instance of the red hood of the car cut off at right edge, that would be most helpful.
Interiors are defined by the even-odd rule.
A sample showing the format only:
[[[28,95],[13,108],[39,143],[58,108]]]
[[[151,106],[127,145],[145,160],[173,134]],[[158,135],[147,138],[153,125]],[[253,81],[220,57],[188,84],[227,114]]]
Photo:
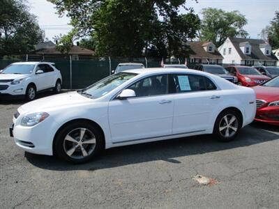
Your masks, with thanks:
[[[257,95],[257,100],[273,102],[279,100],[279,87],[254,86],[252,87]]]

